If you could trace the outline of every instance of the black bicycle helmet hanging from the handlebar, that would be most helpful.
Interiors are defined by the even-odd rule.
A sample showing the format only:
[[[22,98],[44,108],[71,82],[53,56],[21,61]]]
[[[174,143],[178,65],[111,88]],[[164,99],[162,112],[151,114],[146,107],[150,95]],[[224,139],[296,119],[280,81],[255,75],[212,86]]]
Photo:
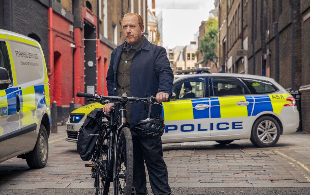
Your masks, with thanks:
[[[161,137],[165,131],[165,123],[162,116],[152,119],[147,118],[135,123],[132,130],[140,137],[155,139]]]

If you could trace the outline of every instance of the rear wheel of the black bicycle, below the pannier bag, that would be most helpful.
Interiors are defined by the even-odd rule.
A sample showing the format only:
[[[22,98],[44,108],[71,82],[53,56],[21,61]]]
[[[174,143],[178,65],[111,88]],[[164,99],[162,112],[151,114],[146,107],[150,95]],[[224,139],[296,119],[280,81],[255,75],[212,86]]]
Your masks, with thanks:
[[[100,131],[98,142],[104,139],[105,130]],[[92,168],[92,172],[94,171],[95,176],[95,194],[96,195],[108,195],[110,182],[106,181],[107,178],[107,153],[108,153],[108,146],[107,140],[105,139],[102,145],[96,146],[96,150],[100,150],[99,154],[96,157],[95,164],[97,165],[97,169]]]

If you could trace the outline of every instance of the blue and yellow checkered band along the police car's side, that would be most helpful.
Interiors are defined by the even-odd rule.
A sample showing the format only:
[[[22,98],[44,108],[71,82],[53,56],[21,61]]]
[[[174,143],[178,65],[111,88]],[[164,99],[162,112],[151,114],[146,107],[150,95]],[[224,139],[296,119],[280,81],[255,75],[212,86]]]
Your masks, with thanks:
[[[255,116],[264,111],[271,111],[279,115],[289,94],[277,95],[248,95],[216,98],[202,98],[193,100],[176,100],[162,103],[162,116],[165,121],[230,118]],[[238,102],[248,102],[240,106]],[[197,110],[197,104],[209,105],[204,110]]]

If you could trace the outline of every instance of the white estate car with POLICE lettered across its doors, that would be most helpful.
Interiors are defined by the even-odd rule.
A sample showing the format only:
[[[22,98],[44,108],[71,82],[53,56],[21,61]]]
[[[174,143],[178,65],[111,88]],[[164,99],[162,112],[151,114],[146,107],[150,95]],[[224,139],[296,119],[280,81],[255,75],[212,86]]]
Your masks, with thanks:
[[[295,99],[275,80],[208,70],[203,67],[176,72],[172,88],[175,98],[162,103],[162,143],[229,144],[250,139],[255,146],[270,147],[281,134],[297,130],[299,113]],[[77,132],[73,140],[76,138]]]

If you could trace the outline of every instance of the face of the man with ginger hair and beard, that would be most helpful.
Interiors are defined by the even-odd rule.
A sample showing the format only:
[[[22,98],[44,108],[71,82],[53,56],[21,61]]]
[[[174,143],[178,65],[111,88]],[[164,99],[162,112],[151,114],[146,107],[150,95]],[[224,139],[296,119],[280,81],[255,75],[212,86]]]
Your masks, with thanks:
[[[140,41],[144,26],[140,27],[135,15],[126,16],[122,22],[123,37],[127,43],[133,45]]]

